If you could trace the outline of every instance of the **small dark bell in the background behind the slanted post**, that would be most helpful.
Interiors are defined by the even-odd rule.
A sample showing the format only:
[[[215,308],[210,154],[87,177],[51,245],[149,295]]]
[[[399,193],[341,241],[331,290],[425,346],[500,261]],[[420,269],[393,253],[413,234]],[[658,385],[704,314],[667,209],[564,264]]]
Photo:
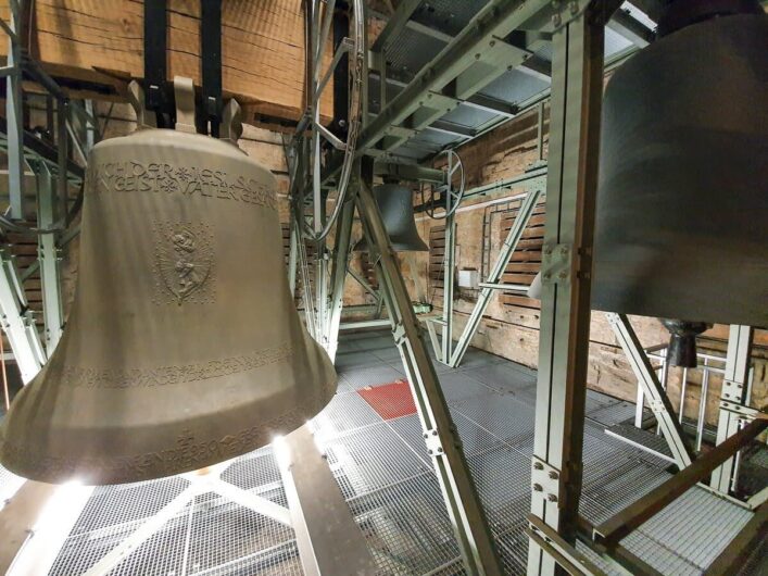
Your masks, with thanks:
[[[376,204],[381,211],[385,229],[395,252],[426,252],[429,250],[416,229],[413,192],[399,184],[382,184],[374,188]],[[363,238],[354,250],[365,252],[368,241]]]

